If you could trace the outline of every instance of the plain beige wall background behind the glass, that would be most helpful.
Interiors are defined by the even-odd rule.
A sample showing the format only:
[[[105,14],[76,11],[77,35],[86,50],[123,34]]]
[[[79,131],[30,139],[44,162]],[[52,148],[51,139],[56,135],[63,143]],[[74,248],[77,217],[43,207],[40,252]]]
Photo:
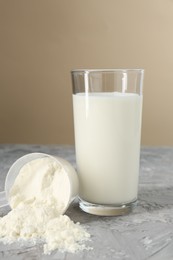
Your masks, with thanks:
[[[0,0],[0,143],[72,144],[70,70],[144,68],[143,145],[173,145],[172,0]]]

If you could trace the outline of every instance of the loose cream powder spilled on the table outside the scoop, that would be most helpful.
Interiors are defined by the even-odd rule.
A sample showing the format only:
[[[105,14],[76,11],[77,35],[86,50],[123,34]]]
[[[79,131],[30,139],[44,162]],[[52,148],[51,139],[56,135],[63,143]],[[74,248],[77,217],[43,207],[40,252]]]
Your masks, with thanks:
[[[5,244],[21,239],[36,243],[44,241],[44,254],[54,250],[77,252],[90,249],[84,241],[90,234],[67,215],[59,215],[56,208],[43,205],[20,205],[0,218],[0,237]]]

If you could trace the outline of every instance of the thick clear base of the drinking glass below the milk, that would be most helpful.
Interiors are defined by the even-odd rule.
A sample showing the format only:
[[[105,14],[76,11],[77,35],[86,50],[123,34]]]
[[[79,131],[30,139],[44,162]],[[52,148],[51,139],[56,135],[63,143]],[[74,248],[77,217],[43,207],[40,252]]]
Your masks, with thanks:
[[[100,205],[94,204],[79,198],[79,207],[90,214],[97,216],[121,216],[126,215],[132,211],[136,206],[137,200],[134,200],[126,204],[116,204],[116,205]]]

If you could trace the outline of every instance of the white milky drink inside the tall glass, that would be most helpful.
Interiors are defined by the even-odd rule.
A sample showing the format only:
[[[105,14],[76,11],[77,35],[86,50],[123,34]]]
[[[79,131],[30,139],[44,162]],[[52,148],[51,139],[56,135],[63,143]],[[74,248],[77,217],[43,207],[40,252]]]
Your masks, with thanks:
[[[137,199],[142,96],[73,95],[80,198],[120,205]]]

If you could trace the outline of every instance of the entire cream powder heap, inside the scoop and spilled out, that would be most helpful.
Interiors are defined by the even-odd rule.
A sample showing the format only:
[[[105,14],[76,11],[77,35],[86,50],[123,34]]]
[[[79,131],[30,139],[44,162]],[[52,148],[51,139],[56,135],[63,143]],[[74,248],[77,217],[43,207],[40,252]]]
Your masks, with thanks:
[[[64,169],[51,157],[25,164],[10,191],[12,210],[0,218],[0,240],[5,244],[41,240],[45,254],[89,249],[84,241],[90,234],[63,215],[69,185]]]

